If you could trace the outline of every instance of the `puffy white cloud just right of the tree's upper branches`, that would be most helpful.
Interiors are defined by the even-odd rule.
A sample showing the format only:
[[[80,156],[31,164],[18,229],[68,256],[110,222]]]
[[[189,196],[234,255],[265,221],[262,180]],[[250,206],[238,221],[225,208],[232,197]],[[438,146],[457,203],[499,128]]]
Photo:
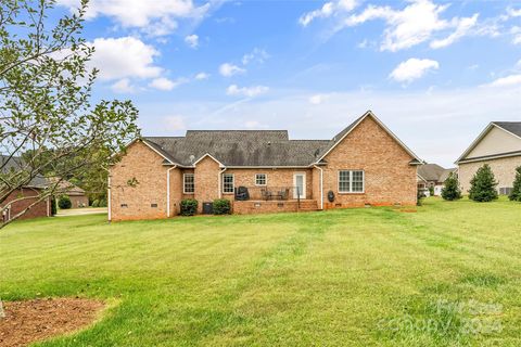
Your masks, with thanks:
[[[163,68],[154,65],[160,52],[134,37],[98,38],[89,42],[96,48],[89,66],[100,69],[100,79],[113,80],[128,77],[158,77]]]

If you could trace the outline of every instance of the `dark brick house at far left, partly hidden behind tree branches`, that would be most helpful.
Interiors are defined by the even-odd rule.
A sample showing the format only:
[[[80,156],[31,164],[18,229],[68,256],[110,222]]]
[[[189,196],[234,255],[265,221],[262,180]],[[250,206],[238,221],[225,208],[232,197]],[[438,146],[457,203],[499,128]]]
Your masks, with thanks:
[[[1,166],[4,174],[17,170],[21,167],[21,159],[17,157],[9,158],[1,156]],[[27,185],[22,189],[13,191],[8,198],[0,204],[2,210],[1,218],[7,221],[25,210],[28,206],[34,204],[40,191],[48,187],[49,182],[43,177],[35,177]],[[20,219],[28,219],[36,217],[49,217],[51,215],[51,198],[47,197],[43,201],[34,205]]]

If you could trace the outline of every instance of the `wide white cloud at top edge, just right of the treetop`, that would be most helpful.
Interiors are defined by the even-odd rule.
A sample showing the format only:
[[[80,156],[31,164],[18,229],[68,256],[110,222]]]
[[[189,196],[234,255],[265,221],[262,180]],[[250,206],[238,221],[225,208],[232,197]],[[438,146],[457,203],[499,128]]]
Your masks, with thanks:
[[[59,0],[59,4],[76,10],[78,0]],[[213,3],[201,7],[191,0],[90,0],[87,20],[107,16],[125,28],[139,28],[147,34],[162,36],[171,33],[179,20],[200,21]]]

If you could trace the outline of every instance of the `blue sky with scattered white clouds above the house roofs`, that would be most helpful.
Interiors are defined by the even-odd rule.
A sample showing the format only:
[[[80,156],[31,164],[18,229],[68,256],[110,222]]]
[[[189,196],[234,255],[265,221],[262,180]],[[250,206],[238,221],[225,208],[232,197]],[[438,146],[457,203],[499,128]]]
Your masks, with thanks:
[[[132,100],[144,134],[328,139],[372,110],[450,166],[487,123],[521,120],[521,1],[91,0],[87,17],[94,97]]]

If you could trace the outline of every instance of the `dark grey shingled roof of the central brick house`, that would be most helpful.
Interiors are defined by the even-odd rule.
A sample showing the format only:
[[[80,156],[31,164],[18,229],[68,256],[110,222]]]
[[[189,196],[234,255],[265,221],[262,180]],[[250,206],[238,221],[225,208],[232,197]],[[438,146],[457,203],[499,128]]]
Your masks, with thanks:
[[[371,112],[367,112],[331,140],[290,140],[287,130],[188,130],[185,137],[144,137],[165,164],[193,166],[205,155],[226,167],[308,167],[323,157],[358,124],[371,116],[414,158],[421,160]]]

